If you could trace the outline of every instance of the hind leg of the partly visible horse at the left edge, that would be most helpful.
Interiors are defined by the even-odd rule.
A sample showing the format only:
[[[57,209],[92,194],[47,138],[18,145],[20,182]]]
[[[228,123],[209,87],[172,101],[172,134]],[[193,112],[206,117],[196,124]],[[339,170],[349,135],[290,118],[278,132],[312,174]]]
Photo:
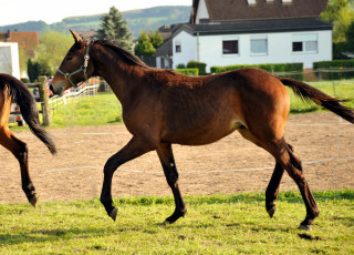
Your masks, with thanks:
[[[18,159],[21,169],[22,190],[29,202],[35,207],[38,196],[30,177],[27,144],[17,139],[8,128],[0,128],[0,144]]]

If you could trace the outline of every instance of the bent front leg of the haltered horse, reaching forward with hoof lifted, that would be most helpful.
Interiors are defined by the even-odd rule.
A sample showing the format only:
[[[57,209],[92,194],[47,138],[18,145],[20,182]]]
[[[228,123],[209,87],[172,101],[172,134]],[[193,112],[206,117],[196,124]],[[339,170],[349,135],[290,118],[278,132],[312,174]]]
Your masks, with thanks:
[[[101,193],[101,203],[104,205],[107,214],[114,221],[118,210],[113,206],[112,200],[112,177],[114,172],[124,163],[134,160],[146,152],[154,150],[152,142],[134,136],[121,151],[111,156],[104,166],[104,178]]]

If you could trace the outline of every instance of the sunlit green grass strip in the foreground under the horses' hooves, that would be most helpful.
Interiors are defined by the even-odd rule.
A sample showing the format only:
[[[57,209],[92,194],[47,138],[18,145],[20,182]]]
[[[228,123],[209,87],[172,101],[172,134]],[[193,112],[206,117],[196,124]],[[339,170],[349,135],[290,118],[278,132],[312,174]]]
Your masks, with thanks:
[[[354,191],[316,192],[313,230],[298,192],[281,193],[269,218],[263,194],[187,196],[188,213],[162,226],[168,197],[115,200],[113,222],[97,198],[0,205],[0,254],[354,254]]]

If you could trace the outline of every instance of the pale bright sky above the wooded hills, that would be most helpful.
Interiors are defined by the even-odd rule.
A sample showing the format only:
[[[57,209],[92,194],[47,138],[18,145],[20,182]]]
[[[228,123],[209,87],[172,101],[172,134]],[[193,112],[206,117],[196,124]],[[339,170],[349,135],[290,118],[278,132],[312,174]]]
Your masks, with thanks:
[[[43,20],[51,24],[73,16],[107,13],[158,6],[191,6],[192,0],[0,0],[0,26]]]

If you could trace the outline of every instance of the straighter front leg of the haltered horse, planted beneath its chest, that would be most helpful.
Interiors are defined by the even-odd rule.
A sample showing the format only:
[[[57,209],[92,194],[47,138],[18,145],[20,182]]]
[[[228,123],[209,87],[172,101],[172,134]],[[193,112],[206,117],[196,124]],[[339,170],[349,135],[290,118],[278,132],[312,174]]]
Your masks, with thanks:
[[[160,143],[156,149],[158,157],[162,162],[164,173],[167,180],[168,185],[173,190],[173,194],[175,197],[176,208],[173,215],[166,218],[164,224],[171,224],[176,222],[179,217],[185,216],[187,210],[184,198],[180,195],[179,186],[178,186],[178,172],[176,169],[176,163],[173,154],[171,144],[169,143]]]

